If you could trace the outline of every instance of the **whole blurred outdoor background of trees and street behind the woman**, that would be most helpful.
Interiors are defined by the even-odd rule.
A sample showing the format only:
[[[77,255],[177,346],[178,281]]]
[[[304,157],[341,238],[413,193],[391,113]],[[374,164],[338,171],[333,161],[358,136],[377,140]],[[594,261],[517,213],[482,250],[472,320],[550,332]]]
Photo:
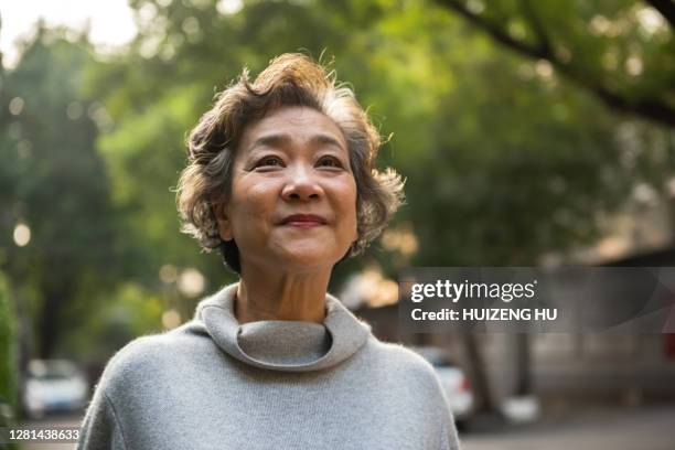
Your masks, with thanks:
[[[331,291],[437,366],[464,448],[675,448],[674,334],[403,335],[396,313],[407,266],[675,266],[673,1],[26,0],[0,20],[0,426],[76,426],[118,349],[235,280],[179,233],[185,135],[242,67],[300,51],[407,178]]]

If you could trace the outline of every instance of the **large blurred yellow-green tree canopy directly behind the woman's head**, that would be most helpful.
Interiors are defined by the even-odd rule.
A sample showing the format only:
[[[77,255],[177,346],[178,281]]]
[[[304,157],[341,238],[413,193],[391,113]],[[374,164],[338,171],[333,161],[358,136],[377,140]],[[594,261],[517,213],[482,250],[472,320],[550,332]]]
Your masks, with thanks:
[[[170,188],[214,93],[283,52],[334,55],[339,78],[394,132],[381,161],[408,178],[397,221],[417,245],[376,245],[365,258],[390,276],[405,265],[536,265],[591,243],[598,217],[636,185],[664,192],[674,67],[660,15],[629,1],[457,2],[523,49],[504,52],[456,2],[440,3],[133,0],[137,39],[90,65],[85,84],[109,117],[98,146],[126,239],[142,254],[135,277],[149,289],[165,288],[167,266],[199,268],[207,289],[234,278],[179,235]],[[190,311],[194,300],[176,301]]]

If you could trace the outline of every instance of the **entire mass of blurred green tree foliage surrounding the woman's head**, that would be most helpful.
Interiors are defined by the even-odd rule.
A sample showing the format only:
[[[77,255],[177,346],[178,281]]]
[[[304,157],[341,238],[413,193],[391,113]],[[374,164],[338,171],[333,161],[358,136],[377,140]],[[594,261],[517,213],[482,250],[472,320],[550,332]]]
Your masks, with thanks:
[[[139,34],[118,54],[43,32],[2,87],[2,267],[38,298],[61,298],[69,321],[43,317],[79,336],[154,329],[168,307],[186,319],[195,298],[162,270],[197,268],[207,291],[234,276],[179,233],[185,135],[244,66],[255,75],[298,51],[355,88],[393,135],[381,165],[407,178],[392,229],[417,245],[377,243],[361,261],[390,276],[534,265],[590,243],[599,215],[673,176],[673,36],[652,3],[133,0]],[[7,115],[14,98],[22,110]],[[19,222],[25,247],[11,240]]]

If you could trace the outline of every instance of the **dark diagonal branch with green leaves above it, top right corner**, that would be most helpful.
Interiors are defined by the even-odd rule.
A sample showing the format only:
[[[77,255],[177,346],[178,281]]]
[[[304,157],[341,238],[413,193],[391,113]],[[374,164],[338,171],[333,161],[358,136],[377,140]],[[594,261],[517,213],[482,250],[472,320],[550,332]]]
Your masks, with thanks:
[[[438,0],[496,43],[551,67],[619,111],[675,126],[671,0]]]

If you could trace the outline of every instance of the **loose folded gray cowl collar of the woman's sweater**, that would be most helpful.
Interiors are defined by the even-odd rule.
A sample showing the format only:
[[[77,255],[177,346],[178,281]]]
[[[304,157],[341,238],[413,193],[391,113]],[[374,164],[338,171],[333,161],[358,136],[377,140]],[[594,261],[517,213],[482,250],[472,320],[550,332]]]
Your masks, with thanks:
[[[309,372],[331,367],[356,353],[371,329],[326,293],[323,324],[266,320],[239,324],[234,315],[238,283],[200,302],[195,319],[228,355],[256,367]]]

